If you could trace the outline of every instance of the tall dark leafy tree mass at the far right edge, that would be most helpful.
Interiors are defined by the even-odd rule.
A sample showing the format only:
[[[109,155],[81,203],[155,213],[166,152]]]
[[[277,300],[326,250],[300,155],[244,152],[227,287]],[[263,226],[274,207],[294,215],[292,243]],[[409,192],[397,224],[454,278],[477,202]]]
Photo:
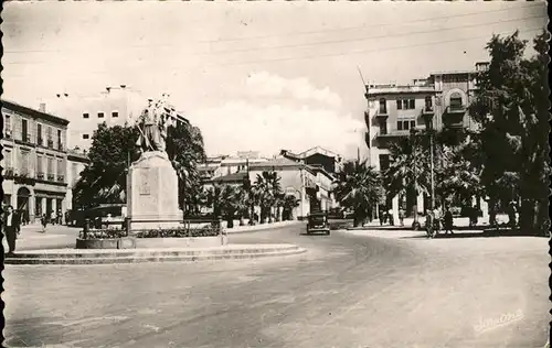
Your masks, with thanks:
[[[490,65],[478,76],[470,107],[482,126],[481,183],[491,204],[520,197],[521,228],[535,233],[545,233],[550,225],[548,39],[546,32],[538,35],[537,54],[527,58],[527,41],[518,32],[492,36],[487,44]]]

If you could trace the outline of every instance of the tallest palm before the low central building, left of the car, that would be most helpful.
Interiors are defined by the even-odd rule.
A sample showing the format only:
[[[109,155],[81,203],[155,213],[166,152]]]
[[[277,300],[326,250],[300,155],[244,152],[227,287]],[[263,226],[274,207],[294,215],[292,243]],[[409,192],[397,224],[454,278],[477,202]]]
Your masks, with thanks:
[[[272,208],[277,203],[277,197],[282,193],[280,177],[276,172],[263,172],[257,174],[257,178],[252,187],[255,200],[261,206],[261,222],[264,224],[268,217],[268,222],[273,222]]]

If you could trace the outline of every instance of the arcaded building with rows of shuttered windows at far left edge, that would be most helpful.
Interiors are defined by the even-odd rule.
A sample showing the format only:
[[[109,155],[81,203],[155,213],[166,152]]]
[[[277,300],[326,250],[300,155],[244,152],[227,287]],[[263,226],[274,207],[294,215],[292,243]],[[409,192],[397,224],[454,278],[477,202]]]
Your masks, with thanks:
[[[29,221],[66,209],[66,133],[68,121],[2,99],[4,204]]]

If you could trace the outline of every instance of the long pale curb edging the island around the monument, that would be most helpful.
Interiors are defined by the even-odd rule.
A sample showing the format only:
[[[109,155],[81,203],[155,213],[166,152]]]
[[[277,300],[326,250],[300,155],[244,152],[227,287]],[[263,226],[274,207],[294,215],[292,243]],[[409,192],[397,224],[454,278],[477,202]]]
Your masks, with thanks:
[[[208,260],[241,260],[277,255],[293,255],[306,252],[297,246],[280,246],[253,249],[215,250],[140,250],[140,251],[95,251],[95,252],[51,252],[34,251],[6,258],[4,264],[116,264],[142,262],[190,262]]]

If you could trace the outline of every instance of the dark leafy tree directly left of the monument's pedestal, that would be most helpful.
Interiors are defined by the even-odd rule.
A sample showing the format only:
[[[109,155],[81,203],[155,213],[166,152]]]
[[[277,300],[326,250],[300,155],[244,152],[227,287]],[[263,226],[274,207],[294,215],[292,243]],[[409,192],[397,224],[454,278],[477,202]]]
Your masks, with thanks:
[[[75,206],[88,208],[100,203],[125,203],[128,163],[136,159],[137,133],[130,127],[107,127],[94,131],[88,152],[91,164],[75,185]]]

